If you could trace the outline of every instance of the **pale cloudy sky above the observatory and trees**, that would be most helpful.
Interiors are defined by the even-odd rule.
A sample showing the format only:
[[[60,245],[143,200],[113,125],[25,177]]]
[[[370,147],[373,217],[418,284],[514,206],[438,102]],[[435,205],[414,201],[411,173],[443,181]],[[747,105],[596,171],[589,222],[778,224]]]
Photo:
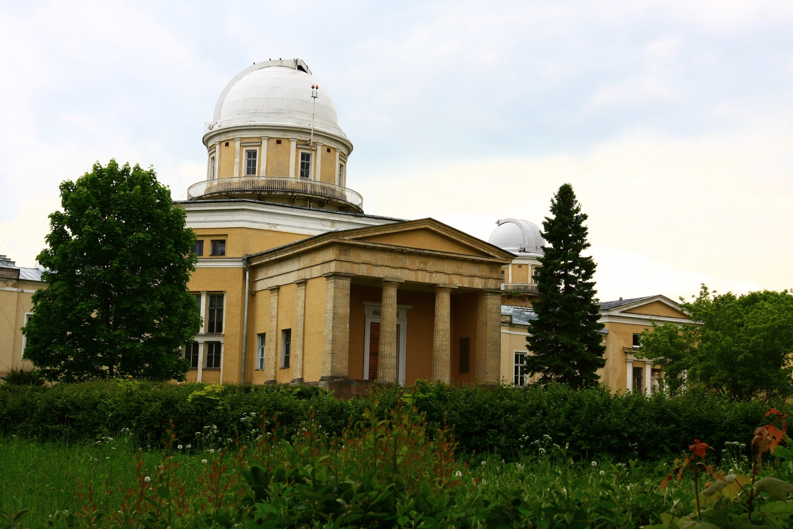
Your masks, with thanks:
[[[791,2],[3,2],[0,253],[34,266],[60,182],[205,178],[203,124],[252,63],[304,59],[366,213],[487,240],[589,218],[601,300],[793,287]]]

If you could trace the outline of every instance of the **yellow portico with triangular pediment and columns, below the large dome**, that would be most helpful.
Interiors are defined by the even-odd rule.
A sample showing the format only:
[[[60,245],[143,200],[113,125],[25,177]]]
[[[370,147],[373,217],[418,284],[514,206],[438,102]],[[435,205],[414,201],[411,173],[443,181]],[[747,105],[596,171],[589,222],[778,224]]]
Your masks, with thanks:
[[[496,385],[500,270],[512,257],[433,219],[250,255],[248,348],[267,351],[246,381]]]

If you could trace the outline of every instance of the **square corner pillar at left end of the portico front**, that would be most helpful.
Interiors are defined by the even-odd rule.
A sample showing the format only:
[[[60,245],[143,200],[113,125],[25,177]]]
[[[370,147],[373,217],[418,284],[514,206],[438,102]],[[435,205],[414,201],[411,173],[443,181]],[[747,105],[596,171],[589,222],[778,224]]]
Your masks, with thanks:
[[[320,380],[349,378],[350,282],[353,274],[324,274],[325,335]]]

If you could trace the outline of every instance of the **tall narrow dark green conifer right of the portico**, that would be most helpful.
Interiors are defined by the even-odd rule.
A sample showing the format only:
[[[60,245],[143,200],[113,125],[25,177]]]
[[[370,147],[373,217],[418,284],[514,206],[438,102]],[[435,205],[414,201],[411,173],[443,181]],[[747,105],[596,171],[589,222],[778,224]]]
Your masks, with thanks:
[[[600,305],[595,298],[596,263],[581,252],[590,245],[588,228],[573,186],[564,184],[551,200],[551,215],[542,222],[549,246],[539,258],[539,301],[532,305],[537,320],[531,324],[524,370],[540,374],[540,383],[564,382],[573,387],[597,385],[596,370],[606,365],[600,330]]]

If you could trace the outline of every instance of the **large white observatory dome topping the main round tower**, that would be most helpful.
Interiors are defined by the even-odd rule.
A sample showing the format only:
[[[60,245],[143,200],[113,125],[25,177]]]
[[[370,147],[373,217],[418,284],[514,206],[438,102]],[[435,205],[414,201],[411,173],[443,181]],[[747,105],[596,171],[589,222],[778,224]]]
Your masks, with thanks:
[[[285,125],[311,128],[311,86],[320,85],[301,59],[269,60],[239,72],[218,99],[212,128]],[[328,90],[317,92],[314,129],[347,138]]]

